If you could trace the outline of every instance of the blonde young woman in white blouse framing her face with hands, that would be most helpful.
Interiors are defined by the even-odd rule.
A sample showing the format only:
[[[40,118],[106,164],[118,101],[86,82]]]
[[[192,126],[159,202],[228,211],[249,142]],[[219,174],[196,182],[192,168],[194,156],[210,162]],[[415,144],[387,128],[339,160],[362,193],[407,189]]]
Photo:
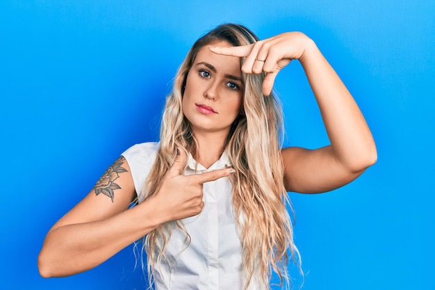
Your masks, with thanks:
[[[304,67],[331,145],[281,149],[275,76]],[[377,159],[370,129],[303,33],[258,40],[238,24],[190,49],[167,97],[161,140],[126,150],[49,231],[43,277],[93,268],[145,236],[156,289],[269,289],[297,255],[287,191],[351,182]],[[131,202],[137,202],[129,208]]]

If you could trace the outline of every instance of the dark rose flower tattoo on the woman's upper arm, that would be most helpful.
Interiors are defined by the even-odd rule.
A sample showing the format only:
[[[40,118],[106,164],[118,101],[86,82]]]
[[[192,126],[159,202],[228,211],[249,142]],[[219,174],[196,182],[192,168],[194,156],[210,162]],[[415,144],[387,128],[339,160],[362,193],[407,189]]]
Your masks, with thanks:
[[[115,184],[115,180],[120,177],[119,173],[127,172],[127,170],[122,166],[125,158],[121,156],[117,161],[115,161],[109,168],[107,168],[106,172],[99,178],[99,181],[94,186],[95,195],[99,195],[103,193],[107,195],[113,202],[113,196],[116,189],[121,189],[121,186]]]

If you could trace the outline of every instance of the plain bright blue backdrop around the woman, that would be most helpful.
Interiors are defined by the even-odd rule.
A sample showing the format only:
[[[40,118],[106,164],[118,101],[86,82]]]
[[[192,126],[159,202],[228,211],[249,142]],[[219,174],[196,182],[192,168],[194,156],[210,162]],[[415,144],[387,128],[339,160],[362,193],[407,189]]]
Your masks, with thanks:
[[[145,289],[131,247],[91,271],[49,280],[38,275],[38,252],[117,156],[156,140],[192,43],[217,24],[240,22],[260,38],[313,38],[377,141],[376,165],[352,184],[290,193],[302,289],[435,289],[434,20],[432,0],[1,1],[0,288]],[[285,144],[327,144],[299,63],[276,88]]]

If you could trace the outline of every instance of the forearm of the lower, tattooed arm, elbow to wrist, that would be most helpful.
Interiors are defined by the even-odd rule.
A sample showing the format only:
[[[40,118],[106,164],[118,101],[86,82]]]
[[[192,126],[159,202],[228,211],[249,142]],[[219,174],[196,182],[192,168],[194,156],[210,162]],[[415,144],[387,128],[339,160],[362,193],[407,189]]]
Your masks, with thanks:
[[[41,275],[73,275],[103,263],[159,225],[149,208],[149,204],[139,204],[104,220],[64,225],[49,232],[38,257]]]

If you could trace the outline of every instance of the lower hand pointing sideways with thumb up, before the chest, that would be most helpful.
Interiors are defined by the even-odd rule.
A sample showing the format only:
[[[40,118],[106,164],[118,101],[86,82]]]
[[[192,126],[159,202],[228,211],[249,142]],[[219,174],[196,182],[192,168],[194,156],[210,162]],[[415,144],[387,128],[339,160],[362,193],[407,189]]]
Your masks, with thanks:
[[[228,177],[235,170],[224,168],[194,175],[183,175],[183,165],[186,163],[186,152],[177,150],[174,164],[163,177],[161,184],[147,202],[154,204],[161,223],[195,216],[202,211],[203,184],[222,177]],[[156,216],[157,217],[157,216]]]

